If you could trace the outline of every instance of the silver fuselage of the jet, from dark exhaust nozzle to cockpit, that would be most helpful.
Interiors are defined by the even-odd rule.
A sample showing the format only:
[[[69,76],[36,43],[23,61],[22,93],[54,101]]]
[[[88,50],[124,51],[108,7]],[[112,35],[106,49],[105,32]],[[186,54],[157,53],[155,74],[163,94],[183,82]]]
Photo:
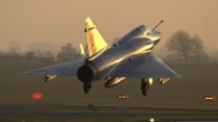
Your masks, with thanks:
[[[140,25],[109,49],[99,52],[98,57],[94,56],[92,61],[86,60],[86,63],[77,70],[77,77],[84,83],[108,78],[122,66],[117,65],[119,62],[131,61],[131,56],[152,50],[160,38],[159,32],[150,32],[145,25]]]

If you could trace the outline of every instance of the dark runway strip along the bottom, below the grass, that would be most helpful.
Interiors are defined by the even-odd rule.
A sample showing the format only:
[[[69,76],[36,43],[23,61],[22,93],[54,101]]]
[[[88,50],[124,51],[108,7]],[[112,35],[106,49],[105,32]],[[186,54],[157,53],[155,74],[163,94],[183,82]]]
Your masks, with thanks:
[[[218,120],[218,110],[164,109],[136,107],[94,107],[61,105],[0,106],[0,121],[143,121]]]

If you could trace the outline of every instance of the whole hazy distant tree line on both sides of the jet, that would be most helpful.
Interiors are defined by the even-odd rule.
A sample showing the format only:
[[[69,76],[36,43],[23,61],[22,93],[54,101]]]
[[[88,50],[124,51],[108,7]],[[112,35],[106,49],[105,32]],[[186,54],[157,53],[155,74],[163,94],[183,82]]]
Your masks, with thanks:
[[[114,38],[113,42],[119,40],[119,37]],[[187,32],[178,30],[175,32],[166,42],[167,54],[161,53],[164,62],[169,63],[218,63],[218,51],[210,52],[209,54],[205,51],[202,39],[195,35],[190,36]],[[85,46],[86,54],[87,45]],[[8,52],[0,51],[0,60],[8,60],[7,58],[14,57],[12,59],[21,60],[27,59],[28,62],[32,60],[43,60],[43,62],[68,62],[71,60],[77,60],[82,58],[80,50],[76,50],[72,44],[62,46],[58,53],[50,51],[38,53],[34,50],[26,51],[21,54],[21,49],[16,47],[10,47]],[[38,59],[37,59],[38,58]],[[2,62],[2,61],[1,61]]]

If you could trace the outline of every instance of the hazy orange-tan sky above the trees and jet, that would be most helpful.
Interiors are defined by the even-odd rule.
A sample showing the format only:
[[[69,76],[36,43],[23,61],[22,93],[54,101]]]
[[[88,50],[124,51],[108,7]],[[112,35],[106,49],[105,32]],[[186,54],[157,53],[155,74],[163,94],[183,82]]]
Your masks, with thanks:
[[[86,44],[88,16],[108,44],[141,24],[153,28],[165,20],[157,28],[164,34],[158,47],[183,29],[217,48],[217,5],[218,0],[0,0],[0,50],[12,44],[26,50],[33,42],[48,41],[78,47]]]

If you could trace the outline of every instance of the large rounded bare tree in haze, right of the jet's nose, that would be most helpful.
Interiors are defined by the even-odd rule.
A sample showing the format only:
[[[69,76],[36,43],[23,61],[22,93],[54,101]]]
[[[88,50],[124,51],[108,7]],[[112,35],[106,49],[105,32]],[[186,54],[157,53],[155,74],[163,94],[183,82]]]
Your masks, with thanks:
[[[166,44],[169,54],[165,60],[168,62],[209,62],[209,56],[205,52],[202,39],[195,35],[191,37],[184,30],[174,33]]]

